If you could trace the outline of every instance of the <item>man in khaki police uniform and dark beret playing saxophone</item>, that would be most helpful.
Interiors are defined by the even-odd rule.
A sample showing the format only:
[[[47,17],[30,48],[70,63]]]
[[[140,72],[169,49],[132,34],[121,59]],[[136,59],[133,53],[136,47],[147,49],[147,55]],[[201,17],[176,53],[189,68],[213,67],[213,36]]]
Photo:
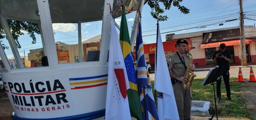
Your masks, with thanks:
[[[167,66],[169,69],[170,77],[174,87],[174,97],[178,108],[180,120],[190,120],[190,111],[192,104],[191,88],[184,89],[182,83],[187,82],[187,78],[184,77],[187,67],[194,72],[195,65],[188,66],[189,55],[185,54],[187,50],[188,42],[183,39],[179,39],[176,42],[178,52],[174,53],[167,59]]]

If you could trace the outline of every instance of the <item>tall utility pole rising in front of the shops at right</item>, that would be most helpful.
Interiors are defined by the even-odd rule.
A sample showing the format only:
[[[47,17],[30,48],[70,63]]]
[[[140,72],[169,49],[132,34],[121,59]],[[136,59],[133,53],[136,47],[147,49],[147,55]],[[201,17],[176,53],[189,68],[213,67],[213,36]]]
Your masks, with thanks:
[[[245,47],[245,35],[244,35],[244,13],[242,0],[239,0],[240,4],[240,32],[241,32],[241,61],[242,66],[247,66],[246,47]]]

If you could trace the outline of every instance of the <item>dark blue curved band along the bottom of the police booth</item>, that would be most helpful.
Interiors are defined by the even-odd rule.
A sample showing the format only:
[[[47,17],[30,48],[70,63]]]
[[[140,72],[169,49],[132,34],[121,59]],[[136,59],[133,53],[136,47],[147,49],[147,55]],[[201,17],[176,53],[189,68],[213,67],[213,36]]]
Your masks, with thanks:
[[[67,116],[67,117],[58,117],[58,118],[22,118],[15,115],[15,113],[12,113],[12,120],[93,120],[100,117],[105,116],[105,109],[99,110],[95,112],[85,113],[81,115],[75,115],[75,116]]]

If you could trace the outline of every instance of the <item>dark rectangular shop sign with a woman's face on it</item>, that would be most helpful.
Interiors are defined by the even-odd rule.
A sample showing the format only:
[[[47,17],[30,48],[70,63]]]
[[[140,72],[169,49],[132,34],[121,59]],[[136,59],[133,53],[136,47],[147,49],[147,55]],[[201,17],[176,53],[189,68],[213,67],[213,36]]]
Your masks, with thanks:
[[[240,28],[203,33],[203,43],[240,38]]]

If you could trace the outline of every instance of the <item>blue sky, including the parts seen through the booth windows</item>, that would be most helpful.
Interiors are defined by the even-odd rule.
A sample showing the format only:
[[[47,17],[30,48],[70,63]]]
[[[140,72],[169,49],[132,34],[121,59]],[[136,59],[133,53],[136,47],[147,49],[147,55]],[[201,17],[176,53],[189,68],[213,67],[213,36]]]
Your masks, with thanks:
[[[164,14],[167,15],[169,19],[167,21],[159,22],[160,32],[169,32],[161,34],[162,40],[165,41],[165,35],[175,33],[184,34],[204,30],[220,29],[227,27],[235,27],[239,25],[239,20],[224,23],[219,26],[221,21],[235,19],[239,17],[239,1],[238,0],[183,0],[180,5],[184,5],[190,10],[189,14],[182,14],[177,7],[172,6],[170,10],[165,10]],[[160,7],[164,8],[161,4]],[[256,19],[256,0],[243,0],[243,11],[245,16]],[[145,4],[142,11],[142,36],[143,41],[146,43],[156,43],[156,23],[157,20],[150,15],[150,7]],[[250,12],[249,12],[250,11]],[[248,16],[249,15],[249,16]],[[129,33],[131,34],[132,26],[135,19],[135,12],[126,15]],[[115,20],[120,24],[121,17]],[[206,28],[194,28],[200,27],[212,23],[218,23],[215,25],[206,26]],[[244,25],[254,25],[256,21],[244,19]],[[101,33],[102,21],[82,23],[82,40],[88,39],[95,35]],[[183,30],[188,29],[188,30]],[[55,42],[60,41],[66,44],[76,44],[78,43],[78,28],[76,23],[58,23],[53,24],[53,30],[55,31]],[[179,31],[176,31],[179,30]],[[117,30],[119,33],[119,30]],[[151,35],[151,36],[147,36]],[[24,56],[24,50],[26,56],[29,50],[42,48],[41,36],[36,35],[37,43],[31,44],[32,38],[29,37],[27,33],[18,38],[21,49],[18,49],[20,56]],[[7,40],[3,43],[9,46]],[[8,58],[13,57],[11,49],[5,50]]]

